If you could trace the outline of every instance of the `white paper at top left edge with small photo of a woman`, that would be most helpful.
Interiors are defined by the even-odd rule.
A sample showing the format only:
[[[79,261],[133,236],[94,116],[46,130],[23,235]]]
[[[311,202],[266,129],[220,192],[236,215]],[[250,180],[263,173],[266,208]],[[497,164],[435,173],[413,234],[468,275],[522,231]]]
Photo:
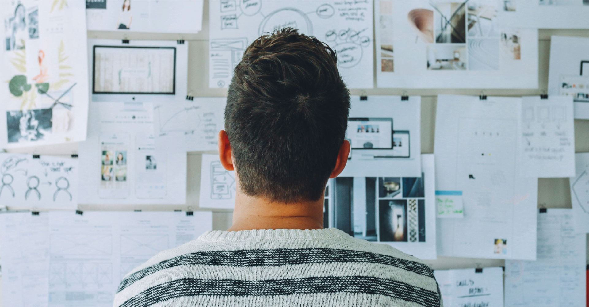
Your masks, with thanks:
[[[92,0],[86,1],[86,16],[89,31],[196,34],[203,26],[203,0]]]

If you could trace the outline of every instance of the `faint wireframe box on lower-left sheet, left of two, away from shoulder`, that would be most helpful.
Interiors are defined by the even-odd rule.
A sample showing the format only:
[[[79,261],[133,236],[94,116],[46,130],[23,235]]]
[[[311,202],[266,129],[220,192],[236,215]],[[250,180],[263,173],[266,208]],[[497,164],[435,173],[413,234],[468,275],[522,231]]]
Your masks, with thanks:
[[[112,235],[52,234],[51,255],[93,255],[109,256],[112,254]]]

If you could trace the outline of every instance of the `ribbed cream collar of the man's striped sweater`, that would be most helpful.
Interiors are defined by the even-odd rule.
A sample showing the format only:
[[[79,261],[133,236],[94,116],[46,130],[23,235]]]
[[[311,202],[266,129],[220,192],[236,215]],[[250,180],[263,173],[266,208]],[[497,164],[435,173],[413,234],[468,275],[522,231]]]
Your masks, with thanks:
[[[252,241],[252,240],[329,240],[345,236],[346,233],[339,229],[255,229],[237,230],[228,232],[226,230],[210,230],[203,233],[198,240],[207,242],[227,241]]]

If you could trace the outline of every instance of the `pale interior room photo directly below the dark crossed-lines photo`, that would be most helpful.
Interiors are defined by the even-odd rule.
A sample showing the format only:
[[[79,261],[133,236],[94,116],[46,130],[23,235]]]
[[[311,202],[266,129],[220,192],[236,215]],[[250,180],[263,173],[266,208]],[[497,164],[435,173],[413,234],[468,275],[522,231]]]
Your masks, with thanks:
[[[429,44],[428,70],[466,70],[466,45]]]

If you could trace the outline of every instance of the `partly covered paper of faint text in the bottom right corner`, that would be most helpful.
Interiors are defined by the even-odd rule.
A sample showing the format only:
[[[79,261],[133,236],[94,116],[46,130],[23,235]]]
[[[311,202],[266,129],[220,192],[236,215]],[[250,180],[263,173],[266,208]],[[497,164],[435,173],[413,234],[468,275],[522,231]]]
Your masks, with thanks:
[[[506,306],[584,306],[585,233],[574,233],[571,209],[538,215],[536,261],[505,261]]]

